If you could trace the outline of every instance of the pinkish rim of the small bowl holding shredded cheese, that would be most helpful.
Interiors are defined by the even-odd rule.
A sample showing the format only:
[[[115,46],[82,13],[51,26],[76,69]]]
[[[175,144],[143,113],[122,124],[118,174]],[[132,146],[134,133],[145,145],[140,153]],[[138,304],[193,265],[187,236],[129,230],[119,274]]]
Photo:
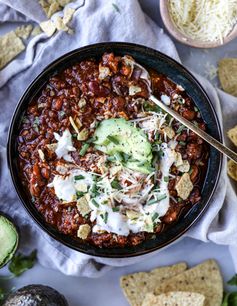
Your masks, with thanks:
[[[233,39],[237,37],[237,22],[232,28],[232,30],[223,38],[223,42],[221,41],[199,41],[190,38],[189,36],[183,34],[178,30],[174,22],[172,21],[168,9],[168,1],[167,0],[160,0],[160,15],[162,18],[162,21],[167,29],[167,31],[179,42],[195,47],[195,48],[216,48],[216,47],[221,47]]]

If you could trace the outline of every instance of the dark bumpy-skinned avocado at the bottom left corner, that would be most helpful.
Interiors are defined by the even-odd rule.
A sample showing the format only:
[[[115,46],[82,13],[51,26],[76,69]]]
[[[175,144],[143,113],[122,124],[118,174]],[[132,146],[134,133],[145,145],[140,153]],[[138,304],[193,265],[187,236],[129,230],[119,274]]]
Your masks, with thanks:
[[[68,306],[68,302],[49,286],[28,285],[11,293],[2,306]]]

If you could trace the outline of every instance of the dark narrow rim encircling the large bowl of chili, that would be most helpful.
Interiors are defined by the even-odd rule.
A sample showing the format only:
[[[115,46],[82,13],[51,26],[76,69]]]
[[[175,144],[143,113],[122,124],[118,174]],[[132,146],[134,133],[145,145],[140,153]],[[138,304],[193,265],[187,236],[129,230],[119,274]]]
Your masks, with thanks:
[[[102,43],[96,43],[96,44],[90,44],[78,49],[74,49],[68,53],[65,53],[64,55],[60,56],[59,58],[57,58],[56,60],[54,60],[53,62],[51,62],[49,65],[47,65],[35,78],[34,80],[29,84],[29,86],[27,87],[27,89],[24,91],[23,95],[21,96],[21,98],[19,99],[15,110],[13,112],[12,118],[11,118],[11,122],[10,122],[10,126],[9,126],[9,130],[8,130],[8,137],[7,137],[7,163],[8,163],[8,168],[10,171],[10,175],[11,175],[11,181],[13,183],[14,189],[18,195],[18,198],[20,199],[21,204],[24,206],[24,208],[26,209],[26,211],[28,212],[29,216],[35,221],[35,223],[39,226],[39,228],[41,230],[43,230],[46,234],[48,234],[51,238],[55,239],[56,241],[62,243],[64,246],[67,246],[73,250],[76,250],[78,252],[87,254],[87,255],[91,255],[93,257],[101,257],[101,258],[130,258],[130,257],[137,257],[137,256],[141,256],[141,255],[145,255],[151,252],[154,252],[158,249],[163,249],[164,247],[167,247],[169,245],[171,245],[173,242],[175,242],[177,239],[179,239],[185,232],[187,232],[190,227],[193,226],[193,224],[195,224],[203,215],[203,213],[205,212],[205,210],[207,209],[207,207],[210,204],[210,200],[216,190],[217,184],[219,182],[219,178],[220,178],[220,173],[222,170],[222,163],[223,163],[223,156],[220,153],[217,153],[218,156],[218,161],[219,161],[219,165],[218,165],[218,169],[217,169],[217,173],[216,173],[216,177],[215,177],[215,182],[213,183],[213,189],[212,191],[209,193],[207,199],[205,200],[205,204],[202,207],[202,209],[200,210],[200,212],[198,212],[198,214],[193,218],[193,220],[191,222],[188,223],[188,225],[179,233],[176,233],[174,235],[174,237],[166,240],[165,242],[161,243],[160,245],[156,245],[155,247],[150,247],[150,248],[144,248],[143,250],[140,251],[136,251],[134,250],[134,252],[131,253],[120,253],[117,254],[116,252],[110,252],[111,250],[121,250],[121,248],[98,248],[98,247],[93,247],[93,251],[88,250],[88,249],[82,249],[80,248],[80,245],[73,245],[70,241],[65,241],[65,237],[62,233],[60,233],[58,230],[56,230],[55,232],[52,230],[52,227],[49,226],[45,220],[40,220],[40,217],[37,216],[37,213],[35,212],[34,208],[31,208],[30,205],[28,203],[26,203],[26,201],[23,198],[23,193],[21,191],[20,186],[18,185],[16,176],[15,176],[15,172],[16,169],[14,167],[13,164],[13,159],[12,159],[12,138],[13,138],[13,133],[14,133],[14,125],[16,124],[16,119],[17,116],[19,115],[19,110],[22,106],[22,104],[24,104],[25,99],[27,98],[28,94],[31,92],[32,88],[34,88],[34,86],[40,82],[42,80],[42,77],[44,77],[45,74],[48,73],[48,71],[50,70],[55,70],[55,67],[63,62],[66,62],[68,59],[70,59],[71,57],[73,58],[73,56],[76,56],[78,53],[83,53],[83,52],[91,52],[93,49],[99,49],[99,48],[104,48],[106,47],[109,50],[113,50],[117,48],[124,48],[124,52],[129,52],[129,51],[137,51],[137,52],[148,52],[151,54],[156,54],[157,56],[159,56],[160,58],[162,58],[162,60],[165,60],[166,62],[168,61],[169,63],[172,63],[174,66],[178,67],[179,69],[182,69],[190,78],[191,80],[195,83],[195,86],[198,87],[198,90],[201,91],[202,95],[205,97],[205,100],[208,102],[211,110],[212,110],[212,115],[214,116],[215,122],[216,122],[216,126],[217,126],[217,132],[218,132],[218,138],[220,141],[223,141],[223,135],[222,135],[222,130],[221,130],[221,125],[218,119],[218,116],[216,114],[216,111],[214,109],[214,106],[210,100],[210,98],[208,97],[206,91],[204,90],[204,88],[202,87],[202,85],[200,84],[200,82],[184,67],[182,66],[180,63],[178,63],[176,60],[172,59],[171,57],[167,56],[166,54],[161,53],[160,51],[157,51],[155,49],[146,47],[144,45],[139,45],[139,44],[134,44],[134,43],[127,43],[127,42],[102,42]],[[129,49],[129,51],[127,51],[127,49]],[[114,51],[116,53],[116,51]],[[148,55],[149,56],[149,55]],[[53,73],[51,73],[52,75]],[[36,91],[37,92],[37,91]],[[25,108],[24,108],[25,109]],[[20,112],[20,114],[22,114],[22,111]],[[206,177],[206,175],[205,175]],[[32,202],[31,202],[32,203]],[[42,219],[42,218],[41,218]],[[49,228],[50,227],[50,228]],[[67,235],[68,236],[68,235]],[[91,248],[92,246],[89,245],[89,247]],[[127,249],[128,247],[124,248]]]

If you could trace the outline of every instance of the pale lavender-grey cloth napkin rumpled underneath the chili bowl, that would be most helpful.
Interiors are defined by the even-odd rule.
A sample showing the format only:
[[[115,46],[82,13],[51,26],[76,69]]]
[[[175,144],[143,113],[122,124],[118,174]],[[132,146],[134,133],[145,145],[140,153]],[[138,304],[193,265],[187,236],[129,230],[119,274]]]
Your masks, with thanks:
[[[10,182],[5,148],[10,118],[18,99],[37,74],[51,61],[75,48],[102,41],[127,41],[152,47],[176,60],[179,57],[172,41],[142,12],[137,0],[86,0],[76,3],[78,9],[71,24],[75,29],[74,35],[58,32],[48,38],[45,34],[40,34],[31,39],[23,59],[12,61],[0,71],[0,210],[10,214],[20,225],[22,247],[37,248],[42,265],[68,275],[98,277],[112,266],[128,265],[150,256],[157,256],[159,260],[162,250],[130,259],[96,258],[73,251],[46,235],[26,214]],[[118,6],[119,11],[113,4]],[[37,0],[30,3],[26,0],[1,0],[0,12],[4,10],[7,10],[9,20],[17,21],[19,17],[22,21],[23,15],[33,21],[44,19]],[[1,13],[0,16],[3,18]],[[5,21],[4,18],[2,20]],[[212,100],[225,134],[226,129],[236,123],[237,99],[221,91],[217,92],[205,79],[198,79]],[[226,143],[229,144],[227,139]],[[237,250],[236,204],[237,197],[227,178],[224,159],[221,178],[211,204],[186,236],[230,245],[234,255]],[[233,256],[233,260],[237,270],[236,256]]]

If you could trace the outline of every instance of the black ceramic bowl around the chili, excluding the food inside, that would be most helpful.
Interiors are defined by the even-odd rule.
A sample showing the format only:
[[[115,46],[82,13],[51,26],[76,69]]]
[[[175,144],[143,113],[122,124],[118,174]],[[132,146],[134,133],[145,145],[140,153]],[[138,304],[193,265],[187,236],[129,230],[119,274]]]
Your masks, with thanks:
[[[138,256],[167,246],[183,235],[202,215],[215,191],[220,175],[222,156],[215,149],[210,148],[208,169],[202,188],[202,200],[198,204],[194,205],[188,213],[183,215],[176,224],[173,224],[166,231],[159,234],[155,239],[144,241],[136,247],[111,249],[97,248],[89,244],[82,244],[70,236],[59,233],[54,227],[44,221],[41,214],[31,202],[31,197],[25,190],[21,178],[19,177],[17,165],[17,136],[19,133],[21,118],[23,117],[27,105],[32,97],[41,90],[49,77],[55,74],[55,72],[65,69],[75,62],[80,62],[91,57],[99,58],[104,52],[114,52],[117,55],[129,54],[145,67],[153,68],[160,73],[165,74],[175,83],[182,85],[200,109],[201,115],[207,123],[208,133],[217,140],[222,140],[220,124],[210,99],[199,82],[179,63],[175,62],[168,56],[145,46],[129,43],[100,43],[86,46],[63,55],[46,67],[30,84],[17,105],[10,125],[7,150],[8,165],[13,184],[24,207],[36,223],[38,223],[38,225],[51,237],[72,249],[93,256],[110,258]]]

